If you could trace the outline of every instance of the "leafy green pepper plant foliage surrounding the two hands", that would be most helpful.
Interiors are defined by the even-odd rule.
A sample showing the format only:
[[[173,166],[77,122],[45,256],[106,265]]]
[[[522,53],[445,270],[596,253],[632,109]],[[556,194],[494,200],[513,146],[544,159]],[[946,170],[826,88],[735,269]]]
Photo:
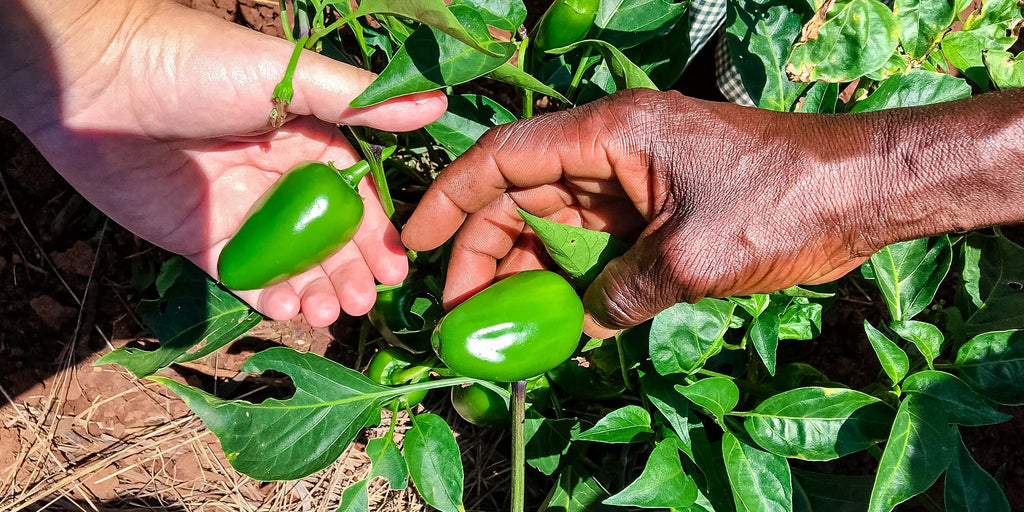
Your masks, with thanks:
[[[1022,9],[1017,0],[728,0],[722,37],[738,100],[776,111],[869,112],[1024,86],[1024,57],[1010,51]],[[303,49],[379,72],[352,106],[449,92],[449,112],[424,130],[400,137],[351,131],[389,215],[395,200],[415,203],[433,179],[428,163],[443,166],[488,128],[530,117],[538,104],[567,109],[625,88],[667,89],[687,61],[688,5],[670,0],[558,0],[537,28],[523,25],[521,0],[362,0],[354,8],[348,0],[283,0],[282,10],[296,52],[274,91],[271,123],[285,119]],[[473,85],[461,86],[467,82]],[[505,104],[478,93],[502,87],[514,91]],[[538,103],[541,97],[547,100]],[[398,147],[382,162],[385,145]],[[626,247],[606,233],[522,215],[578,290]],[[437,298],[445,253],[411,257],[410,280],[382,287],[372,317],[384,340],[422,353],[443,322]],[[525,507],[528,465],[531,481],[548,489],[531,505],[550,511],[1009,511],[999,482],[973,460],[961,431],[1007,421],[1006,408],[1024,403],[1022,268],[1024,248],[997,230],[902,242],[871,256],[846,278],[876,287],[885,303],[863,335],[849,339],[869,344],[878,358],[877,379],[860,389],[778,355],[781,344],[821,333],[822,315],[835,307],[833,285],[676,304],[615,338],[584,337],[574,351],[569,340],[560,358],[572,357],[560,365],[517,354],[509,379],[547,371],[532,381],[544,379],[534,394],[522,381],[512,392],[490,382],[493,372],[459,375],[474,368],[469,352],[453,368],[430,353],[400,352],[388,359],[386,379],[376,372],[372,380],[278,347],[250,357],[243,371],[288,375],[293,396],[218,397],[156,374],[216,351],[260,317],[180,259],[165,264],[160,297],[139,305],[161,346],[118,349],[99,364],[166,385],[217,435],[237,471],[264,480],[322,470],[380,421],[382,409],[408,411],[413,428],[401,446],[392,437],[396,415],[388,434],[368,443],[372,469],[345,489],[343,511],[367,510],[367,485],[378,476],[393,488],[412,478],[434,508],[465,510],[451,426],[410,408],[414,393],[435,388],[454,388],[467,417],[501,409],[478,423],[504,421],[515,433],[513,510]],[[567,288],[559,290],[561,297]],[[516,308],[528,291],[485,293],[493,297],[468,307],[537,319]],[[486,316],[479,311],[445,318],[439,332],[470,338],[466,326]],[[541,321],[552,333],[579,333],[566,327],[575,318]],[[506,416],[510,396],[515,414]],[[872,461],[869,471],[824,469],[855,454]],[[928,493],[940,479],[943,495]]]

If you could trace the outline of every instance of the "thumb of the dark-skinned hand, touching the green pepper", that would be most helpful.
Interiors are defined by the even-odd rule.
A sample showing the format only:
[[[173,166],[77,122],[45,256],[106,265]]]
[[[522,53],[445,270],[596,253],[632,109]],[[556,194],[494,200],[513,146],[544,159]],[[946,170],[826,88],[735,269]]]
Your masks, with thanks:
[[[682,300],[697,300],[680,271],[679,237],[666,225],[611,260],[584,293],[588,334],[607,337],[631,328]]]

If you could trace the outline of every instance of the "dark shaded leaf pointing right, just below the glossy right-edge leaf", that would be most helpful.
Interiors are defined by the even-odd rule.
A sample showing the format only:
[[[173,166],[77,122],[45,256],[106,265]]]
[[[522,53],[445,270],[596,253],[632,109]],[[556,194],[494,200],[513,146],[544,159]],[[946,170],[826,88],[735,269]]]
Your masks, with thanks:
[[[964,381],[945,372],[926,370],[912,374],[903,383],[903,392],[937,400],[939,404],[929,407],[945,411],[946,420],[957,425],[995,425],[1011,418],[992,409]]]

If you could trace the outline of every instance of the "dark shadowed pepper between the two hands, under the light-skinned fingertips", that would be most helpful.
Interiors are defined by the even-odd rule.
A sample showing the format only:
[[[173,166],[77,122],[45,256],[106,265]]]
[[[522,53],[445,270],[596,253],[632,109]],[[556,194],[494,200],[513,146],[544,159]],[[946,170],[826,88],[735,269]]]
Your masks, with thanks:
[[[429,304],[422,316],[413,312],[417,299]],[[430,350],[430,333],[441,311],[440,301],[422,282],[409,280],[397,288],[377,292],[377,301],[367,316],[391,346],[421,353]]]

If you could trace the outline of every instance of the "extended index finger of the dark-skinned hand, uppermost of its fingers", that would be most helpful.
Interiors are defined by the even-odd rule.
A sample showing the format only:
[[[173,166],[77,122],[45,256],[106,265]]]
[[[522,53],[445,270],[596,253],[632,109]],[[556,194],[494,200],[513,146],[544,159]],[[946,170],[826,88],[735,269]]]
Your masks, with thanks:
[[[554,183],[566,170],[610,175],[592,109],[563,111],[488,130],[430,185],[402,231],[406,247],[433,249],[512,187]]]

